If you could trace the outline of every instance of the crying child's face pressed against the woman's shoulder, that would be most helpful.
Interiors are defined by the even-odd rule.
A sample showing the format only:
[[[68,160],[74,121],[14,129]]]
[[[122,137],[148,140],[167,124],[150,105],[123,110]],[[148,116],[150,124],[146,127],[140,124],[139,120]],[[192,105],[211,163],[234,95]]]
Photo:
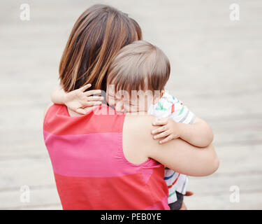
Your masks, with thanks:
[[[117,112],[134,113],[146,112],[151,104],[155,104],[157,94],[151,90],[139,90],[129,92],[120,90],[115,93],[114,85],[108,85],[106,99],[110,106],[114,106]]]

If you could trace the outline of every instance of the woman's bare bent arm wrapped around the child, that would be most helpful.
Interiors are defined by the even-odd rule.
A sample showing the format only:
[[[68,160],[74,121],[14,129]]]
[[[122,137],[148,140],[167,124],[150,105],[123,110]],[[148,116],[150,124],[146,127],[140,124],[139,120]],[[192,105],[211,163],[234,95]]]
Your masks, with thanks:
[[[126,139],[128,145],[126,144],[127,148],[123,147],[124,152],[132,151],[133,158],[136,155],[140,158],[153,158],[166,167],[189,176],[208,176],[218,169],[219,160],[212,144],[198,148],[182,139],[174,139],[160,145],[151,135],[155,129],[152,127],[154,119],[154,116],[147,115],[126,116],[123,141]]]

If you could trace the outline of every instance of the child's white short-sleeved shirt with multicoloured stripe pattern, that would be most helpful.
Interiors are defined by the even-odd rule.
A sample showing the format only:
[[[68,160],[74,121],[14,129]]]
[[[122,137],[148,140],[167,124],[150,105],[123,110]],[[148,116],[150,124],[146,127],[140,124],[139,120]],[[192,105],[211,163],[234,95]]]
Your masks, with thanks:
[[[152,104],[147,111],[157,118],[172,118],[177,123],[192,124],[196,116],[177,98],[165,92],[157,104]],[[186,193],[187,176],[165,168],[164,180],[168,186],[168,204],[177,201],[176,191]]]

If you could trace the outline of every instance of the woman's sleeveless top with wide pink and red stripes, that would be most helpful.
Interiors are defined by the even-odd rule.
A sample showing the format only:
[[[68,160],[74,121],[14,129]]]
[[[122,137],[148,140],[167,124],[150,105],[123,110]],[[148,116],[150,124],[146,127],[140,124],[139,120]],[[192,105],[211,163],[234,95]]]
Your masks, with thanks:
[[[105,105],[80,117],[48,109],[43,135],[63,209],[169,209],[163,165],[124,157],[124,117]]]

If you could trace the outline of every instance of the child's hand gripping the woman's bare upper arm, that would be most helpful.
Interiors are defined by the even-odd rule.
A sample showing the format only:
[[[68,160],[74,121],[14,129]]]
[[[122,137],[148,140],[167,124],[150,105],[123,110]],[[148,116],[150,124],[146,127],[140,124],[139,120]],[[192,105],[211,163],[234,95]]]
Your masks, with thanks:
[[[154,139],[161,139],[159,144],[164,144],[172,139],[178,139],[180,137],[178,123],[175,123],[175,121],[170,118],[157,118],[152,125],[161,126],[152,131]]]

